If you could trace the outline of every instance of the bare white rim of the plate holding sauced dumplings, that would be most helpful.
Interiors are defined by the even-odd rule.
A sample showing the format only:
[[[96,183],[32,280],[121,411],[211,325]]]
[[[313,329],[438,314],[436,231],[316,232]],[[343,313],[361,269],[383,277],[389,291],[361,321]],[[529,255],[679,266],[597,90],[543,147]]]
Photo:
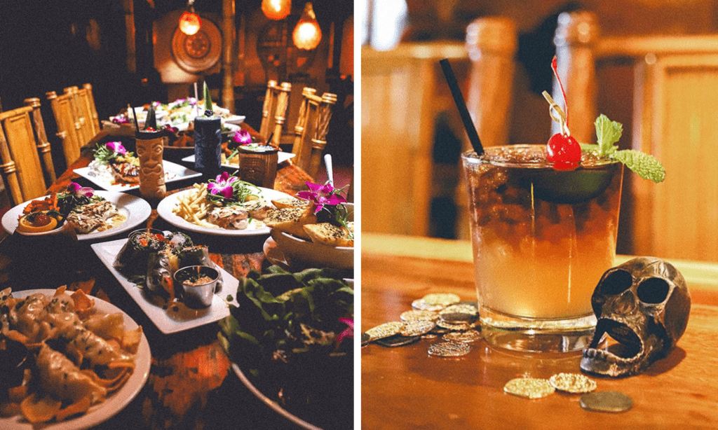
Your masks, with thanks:
[[[27,297],[32,294],[41,292],[44,295],[54,295],[55,290],[25,290],[12,292],[13,297]],[[95,300],[95,310],[100,313],[121,313],[124,322],[125,330],[134,330],[137,328],[137,323],[129,317],[120,308],[108,303],[97,297],[92,297]],[[137,393],[144,386],[144,383],[149,377],[149,368],[152,361],[152,355],[149,350],[149,343],[145,335],[139,342],[139,348],[135,354],[135,368],[132,375],[127,382],[119,389],[116,393],[106,398],[102,403],[98,403],[83,415],[80,415],[73,419],[67,419],[59,423],[40,424],[39,426],[33,426],[32,424],[24,421],[20,416],[12,416],[10,418],[0,418],[0,429],[7,430],[79,430],[88,429],[92,426],[96,426],[104,421],[107,421],[112,416],[116,415],[130,401],[137,396]]]

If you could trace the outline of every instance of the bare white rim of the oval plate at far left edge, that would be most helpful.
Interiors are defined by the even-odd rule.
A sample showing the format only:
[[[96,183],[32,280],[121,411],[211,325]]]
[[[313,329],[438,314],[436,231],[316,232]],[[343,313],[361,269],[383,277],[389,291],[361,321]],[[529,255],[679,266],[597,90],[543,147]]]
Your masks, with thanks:
[[[107,201],[111,201],[121,214],[127,216],[127,219],[122,224],[105,231],[90,231],[88,234],[78,233],[78,240],[102,239],[103,237],[114,236],[115,234],[122,233],[123,231],[128,231],[146,221],[152,212],[152,208],[149,206],[149,203],[144,201],[144,199],[132,196],[131,194],[96,190],[95,194],[103,197],[103,199]],[[42,199],[45,199],[45,197],[38,197],[34,200]],[[27,204],[29,204],[29,201],[15,206],[3,215],[2,228],[7,231],[8,234],[13,234],[15,229],[17,229],[17,220],[22,214],[22,209],[24,209]]]

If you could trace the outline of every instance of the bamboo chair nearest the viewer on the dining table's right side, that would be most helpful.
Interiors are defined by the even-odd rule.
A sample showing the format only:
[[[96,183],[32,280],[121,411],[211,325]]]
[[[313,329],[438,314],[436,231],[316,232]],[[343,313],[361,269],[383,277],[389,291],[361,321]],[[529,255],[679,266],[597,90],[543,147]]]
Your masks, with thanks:
[[[316,176],[322,163],[332,107],[337,102],[335,94],[325,92],[320,97],[315,92],[313,88],[304,88],[302,91],[302,105],[299,106],[292,146],[292,153],[297,154],[292,163],[312,177]]]

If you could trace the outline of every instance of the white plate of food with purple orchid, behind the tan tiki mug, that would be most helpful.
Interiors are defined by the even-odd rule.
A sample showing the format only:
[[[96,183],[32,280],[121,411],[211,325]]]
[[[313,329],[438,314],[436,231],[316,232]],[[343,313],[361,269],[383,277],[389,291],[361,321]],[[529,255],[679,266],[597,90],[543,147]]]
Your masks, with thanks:
[[[165,183],[202,176],[202,173],[172,161],[162,161],[162,167]],[[108,191],[139,188],[139,158],[120,142],[98,143],[95,159],[89,166],[76,168],[74,172]]]

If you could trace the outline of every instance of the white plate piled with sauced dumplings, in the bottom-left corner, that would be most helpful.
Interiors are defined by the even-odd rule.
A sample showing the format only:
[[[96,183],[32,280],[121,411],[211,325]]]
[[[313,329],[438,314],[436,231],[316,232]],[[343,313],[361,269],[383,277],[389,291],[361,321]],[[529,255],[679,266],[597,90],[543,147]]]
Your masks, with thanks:
[[[27,315],[21,318],[25,325],[13,327],[10,322],[11,334],[4,340],[6,351],[14,350],[19,358],[25,353],[23,364],[12,371],[22,370],[20,381],[29,378],[25,386],[31,387],[16,387],[1,401],[4,411],[17,413],[0,417],[0,428],[88,429],[121,411],[147,381],[151,365],[147,338],[141,327],[115,305],[81,291],[67,292],[65,287],[19,292],[8,288],[0,292],[0,302],[2,310]],[[78,324],[56,324],[57,330],[51,335],[46,330],[34,330],[60,320]],[[82,346],[85,344],[87,349]],[[80,349],[84,353],[78,355]],[[80,356],[83,358],[78,359]],[[31,362],[34,365],[29,365]],[[0,365],[7,363],[3,360]],[[32,388],[37,386],[33,380],[39,389]],[[70,389],[68,380],[72,381]],[[1,383],[8,382],[5,378]]]

